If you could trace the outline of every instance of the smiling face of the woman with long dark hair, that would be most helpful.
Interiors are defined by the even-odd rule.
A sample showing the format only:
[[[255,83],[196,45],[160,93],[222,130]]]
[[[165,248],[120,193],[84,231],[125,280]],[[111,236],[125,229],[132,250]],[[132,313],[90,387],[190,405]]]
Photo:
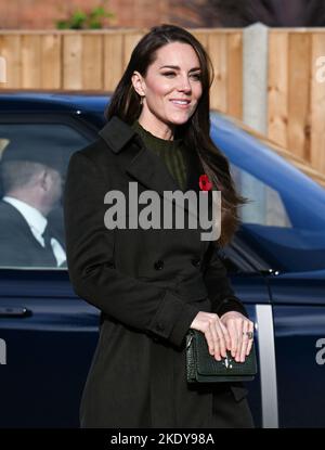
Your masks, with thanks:
[[[132,83],[143,97],[139,123],[159,138],[172,139],[174,127],[190,119],[202,95],[197,54],[187,43],[167,43],[157,50],[145,77],[133,73]]]

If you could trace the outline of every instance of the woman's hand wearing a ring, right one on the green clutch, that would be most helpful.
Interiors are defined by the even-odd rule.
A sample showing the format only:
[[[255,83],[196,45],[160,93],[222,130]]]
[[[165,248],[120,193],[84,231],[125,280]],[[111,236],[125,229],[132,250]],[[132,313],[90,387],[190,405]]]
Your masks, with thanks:
[[[237,311],[225,312],[220,320],[231,337],[231,348],[227,350],[237,362],[244,362],[252,346],[253,322]]]

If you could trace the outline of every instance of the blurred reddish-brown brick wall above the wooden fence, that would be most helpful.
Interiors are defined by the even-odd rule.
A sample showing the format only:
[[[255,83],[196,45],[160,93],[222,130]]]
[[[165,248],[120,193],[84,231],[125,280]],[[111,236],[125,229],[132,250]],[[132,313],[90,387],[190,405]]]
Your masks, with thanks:
[[[9,0],[0,2],[0,29],[53,29],[77,8],[89,11],[101,0]],[[173,23],[185,27],[218,26],[207,0],[110,0],[107,9],[115,18],[110,27],[151,27]],[[208,12],[208,13],[207,13]]]

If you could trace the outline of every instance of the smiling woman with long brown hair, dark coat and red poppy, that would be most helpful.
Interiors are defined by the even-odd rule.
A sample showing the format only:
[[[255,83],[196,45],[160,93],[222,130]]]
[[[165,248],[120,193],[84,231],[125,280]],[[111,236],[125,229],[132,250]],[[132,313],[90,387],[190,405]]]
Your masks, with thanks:
[[[203,241],[199,226],[157,226],[168,203],[164,192],[198,194],[204,175],[222,190],[218,244],[237,227],[244,200],[209,138],[209,67],[190,33],[152,28],[133,50],[99,140],[70,158],[64,198],[69,277],[76,293],[101,310],[81,427],[252,426],[243,385],[186,382],[188,329],[205,334],[218,360],[229,349],[244,361],[251,348],[253,324],[234,296],[216,241]],[[134,197],[148,190],[157,201],[154,218],[144,197]],[[115,209],[112,194],[119,201]],[[188,206],[178,211],[191,215]],[[138,217],[142,227],[134,226]]]

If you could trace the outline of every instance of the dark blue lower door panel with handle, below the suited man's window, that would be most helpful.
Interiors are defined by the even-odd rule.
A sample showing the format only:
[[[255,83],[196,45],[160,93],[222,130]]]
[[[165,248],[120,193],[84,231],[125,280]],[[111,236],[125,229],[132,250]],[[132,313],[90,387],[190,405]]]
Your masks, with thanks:
[[[0,290],[0,427],[77,427],[98,311],[66,270],[1,269]]]

